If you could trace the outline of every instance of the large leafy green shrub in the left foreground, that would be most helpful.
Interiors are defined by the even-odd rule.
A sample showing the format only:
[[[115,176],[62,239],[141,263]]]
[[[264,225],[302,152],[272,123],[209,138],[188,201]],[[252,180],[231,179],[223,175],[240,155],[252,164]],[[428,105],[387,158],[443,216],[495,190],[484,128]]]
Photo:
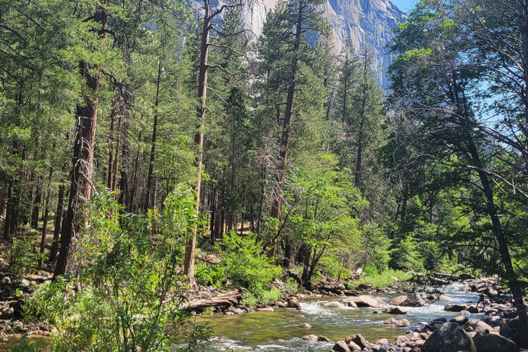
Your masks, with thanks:
[[[113,195],[94,197],[78,278],[43,285],[25,305],[28,320],[56,328],[50,351],[173,351],[174,338],[186,348],[207,338],[208,329],[193,327],[179,309],[182,250],[200,221],[195,192],[180,185],[163,211],[120,213]]]

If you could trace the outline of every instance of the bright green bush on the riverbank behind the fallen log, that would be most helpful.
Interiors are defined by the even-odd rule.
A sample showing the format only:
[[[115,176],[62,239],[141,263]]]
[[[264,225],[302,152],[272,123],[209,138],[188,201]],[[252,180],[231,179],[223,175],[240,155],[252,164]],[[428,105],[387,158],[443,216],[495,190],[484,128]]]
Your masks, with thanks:
[[[234,285],[245,287],[256,296],[263,296],[265,292],[270,292],[266,284],[278,278],[282,270],[263,254],[255,239],[254,233],[248,236],[239,236],[234,232],[225,234],[221,263],[225,276]]]

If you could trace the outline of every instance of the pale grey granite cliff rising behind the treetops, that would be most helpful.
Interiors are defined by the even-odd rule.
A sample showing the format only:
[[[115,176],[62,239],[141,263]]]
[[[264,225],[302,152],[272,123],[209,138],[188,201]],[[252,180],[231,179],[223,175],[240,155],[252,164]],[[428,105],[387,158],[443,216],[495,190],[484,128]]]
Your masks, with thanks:
[[[246,28],[259,36],[266,19],[278,0],[254,0],[244,9]],[[388,0],[327,0],[323,5],[325,17],[333,27],[336,51],[340,51],[347,40],[355,50],[363,50],[367,44],[375,56],[374,68],[382,87],[388,86],[383,68],[388,67],[391,56],[387,45],[391,45],[392,28],[406,21],[404,12]]]

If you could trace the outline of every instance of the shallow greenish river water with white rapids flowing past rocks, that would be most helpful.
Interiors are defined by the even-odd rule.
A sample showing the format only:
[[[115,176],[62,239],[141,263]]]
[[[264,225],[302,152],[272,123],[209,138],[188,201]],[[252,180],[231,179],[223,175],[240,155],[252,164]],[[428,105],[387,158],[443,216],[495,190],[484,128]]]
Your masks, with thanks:
[[[373,308],[327,308],[323,303],[329,300],[342,300],[342,297],[314,298],[301,302],[303,311],[296,309],[275,309],[273,312],[250,312],[240,316],[197,316],[199,325],[208,323],[213,334],[208,342],[210,351],[329,351],[336,340],[360,333],[366,340],[375,342],[381,338],[389,341],[402,335],[408,327],[384,325],[383,322],[393,316],[396,319],[409,320],[411,329],[421,326],[435,318],[452,318],[458,313],[444,311],[444,305],[450,303],[476,303],[478,296],[465,292],[462,284],[446,287],[443,294],[450,301],[434,302],[423,307],[407,307],[405,316],[393,316],[382,313],[382,309]],[[380,296],[388,302],[398,294]],[[375,314],[377,312],[377,314]],[[473,314],[472,316],[478,316]],[[303,324],[311,325],[305,329]],[[314,342],[301,337],[309,334],[326,336],[333,342]]]

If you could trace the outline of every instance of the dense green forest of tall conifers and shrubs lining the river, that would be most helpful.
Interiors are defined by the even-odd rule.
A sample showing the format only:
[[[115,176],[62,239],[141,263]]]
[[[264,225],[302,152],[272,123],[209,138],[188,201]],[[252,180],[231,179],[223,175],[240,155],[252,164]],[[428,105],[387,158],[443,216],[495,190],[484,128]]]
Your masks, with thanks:
[[[256,36],[246,0],[0,0],[0,318],[50,327],[11,351],[198,351],[203,289],[434,273],[499,278],[528,347],[528,2],[421,0],[389,67],[325,2]]]

